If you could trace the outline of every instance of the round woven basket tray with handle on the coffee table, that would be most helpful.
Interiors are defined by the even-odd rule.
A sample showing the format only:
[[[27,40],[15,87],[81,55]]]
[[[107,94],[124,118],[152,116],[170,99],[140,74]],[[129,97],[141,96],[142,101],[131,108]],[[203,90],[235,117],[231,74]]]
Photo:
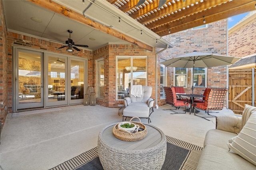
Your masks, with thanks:
[[[130,133],[128,131],[122,130],[120,128],[118,128],[118,124],[116,124],[113,128],[113,134],[117,139],[120,139],[122,141],[140,141],[141,139],[143,139],[144,137],[146,137],[147,133],[148,133],[148,129],[146,128],[145,125],[143,125],[140,122],[136,122],[136,121],[132,121],[133,118],[138,118],[140,120],[139,117],[132,117],[130,119],[129,122],[135,123],[136,125],[139,125],[140,128],[144,129],[143,131],[138,131],[136,133]]]

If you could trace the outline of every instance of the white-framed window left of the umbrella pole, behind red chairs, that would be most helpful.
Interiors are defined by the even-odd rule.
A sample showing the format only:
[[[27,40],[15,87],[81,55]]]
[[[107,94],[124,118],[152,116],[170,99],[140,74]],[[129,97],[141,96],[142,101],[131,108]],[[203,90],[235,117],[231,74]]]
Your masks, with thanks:
[[[187,68],[174,68],[174,86],[187,87]]]

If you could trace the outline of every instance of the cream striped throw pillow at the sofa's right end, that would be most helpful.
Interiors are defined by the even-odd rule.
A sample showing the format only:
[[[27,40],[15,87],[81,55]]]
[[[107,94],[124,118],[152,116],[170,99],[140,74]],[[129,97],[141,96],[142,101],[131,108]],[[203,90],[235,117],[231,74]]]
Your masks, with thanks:
[[[256,111],[252,111],[248,121],[228,148],[256,165]]]

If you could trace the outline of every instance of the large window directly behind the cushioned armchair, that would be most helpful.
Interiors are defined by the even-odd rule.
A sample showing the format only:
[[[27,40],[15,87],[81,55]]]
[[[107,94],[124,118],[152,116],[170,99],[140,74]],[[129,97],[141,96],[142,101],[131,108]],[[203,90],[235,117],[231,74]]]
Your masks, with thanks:
[[[119,56],[116,61],[116,93],[121,100],[129,96],[130,86],[147,85],[147,58]]]

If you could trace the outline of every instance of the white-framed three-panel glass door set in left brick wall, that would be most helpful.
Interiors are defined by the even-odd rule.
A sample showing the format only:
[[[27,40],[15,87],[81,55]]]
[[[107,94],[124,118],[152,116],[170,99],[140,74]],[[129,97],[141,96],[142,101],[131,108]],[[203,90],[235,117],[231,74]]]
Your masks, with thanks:
[[[14,47],[14,109],[82,104],[87,59]]]

